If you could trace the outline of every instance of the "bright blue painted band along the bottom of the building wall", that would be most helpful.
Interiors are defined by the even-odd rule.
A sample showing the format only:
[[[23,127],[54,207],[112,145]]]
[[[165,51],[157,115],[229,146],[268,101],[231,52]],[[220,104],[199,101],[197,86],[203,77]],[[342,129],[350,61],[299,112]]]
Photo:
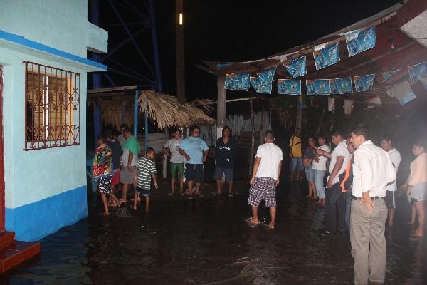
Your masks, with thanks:
[[[6,208],[6,230],[32,242],[88,217],[86,185],[17,208]]]

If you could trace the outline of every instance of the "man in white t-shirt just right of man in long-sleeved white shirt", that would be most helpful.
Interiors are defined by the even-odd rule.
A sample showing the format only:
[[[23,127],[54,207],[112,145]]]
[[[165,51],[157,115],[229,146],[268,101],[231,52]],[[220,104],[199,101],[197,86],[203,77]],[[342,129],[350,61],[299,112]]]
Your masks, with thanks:
[[[391,163],[393,164],[394,170],[396,171],[399,169],[399,165],[401,162],[401,156],[400,152],[396,150],[396,148],[393,147],[391,144],[391,138],[388,136],[383,136],[383,138],[380,141],[381,148],[387,152],[387,154],[390,157]],[[387,227],[391,229],[393,227],[394,222],[394,212],[396,209],[396,199],[394,197],[394,192],[397,190],[396,180],[394,182],[389,183],[386,185],[386,206],[387,209],[389,209],[389,224],[387,224]]]

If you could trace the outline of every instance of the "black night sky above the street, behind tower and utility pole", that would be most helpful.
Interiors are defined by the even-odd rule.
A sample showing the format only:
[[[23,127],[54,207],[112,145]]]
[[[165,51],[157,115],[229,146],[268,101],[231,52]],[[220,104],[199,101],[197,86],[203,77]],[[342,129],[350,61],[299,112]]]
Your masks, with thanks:
[[[90,2],[90,1],[89,1]],[[359,1],[231,1],[184,0],[184,38],[186,56],[186,98],[216,98],[216,78],[196,68],[202,60],[250,61],[285,51],[333,33],[396,4],[396,0]],[[113,1],[129,26],[137,31],[143,21],[133,9]],[[142,1],[129,1],[144,11]],[[164,93],[176,94],[175,1],[154,0],[157,37]],[[125,31],[107,0],[100,1],[100,26],[109,31],[109,48],[120,43]],[[136,23],[136,24],[135,24]],[[152,63],[149,33],[136,41]],[[142,75],[149,74],[132,43],[122,48],[110,68],[123,70],[118,63]],[[117,63],[118,62],[118,63]],[[127,71],[128,72],[128,71]],[[133,85],[135,78],[108,73],[117,86]],[[135,74],[135,73],[134,73]],[[110,85],[105,78],[104,86]]]

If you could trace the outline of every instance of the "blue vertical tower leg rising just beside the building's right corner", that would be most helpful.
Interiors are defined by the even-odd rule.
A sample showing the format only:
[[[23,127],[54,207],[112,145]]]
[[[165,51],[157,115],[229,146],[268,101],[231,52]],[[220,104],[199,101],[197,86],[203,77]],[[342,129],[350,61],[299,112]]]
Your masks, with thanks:
[[[100,1],[91,0],[90,1],[90,21],[96,26],[100,26]],[[97,53],[92,53],[91,56],[93,61],[100,62],[100,55]],[[92,88],[99,89],[101,88],[101,75],[100,73],[93,73],[92,75]],[[101,110],[98,107],[95,107],[93,110],[93,136],[95,140],[95,148],[97,147],[97,136],[102,132],[102,114]]]

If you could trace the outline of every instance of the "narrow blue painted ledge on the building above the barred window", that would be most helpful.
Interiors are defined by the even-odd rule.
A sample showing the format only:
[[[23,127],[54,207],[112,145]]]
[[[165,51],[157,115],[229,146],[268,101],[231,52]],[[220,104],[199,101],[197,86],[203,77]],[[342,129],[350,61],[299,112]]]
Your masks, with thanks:
[[[60,56],[61,58],[66,58],[70,61],[76,61],[78,63],[83,63],[87,66],[93,66],[95,68],[100,68],[103,71],[107,70],[107,66],[102,63],[97,63],[95,61],[91,61],[88,58],[82,58],[80,56],[75,56],[74,54],[67,53],[65,51],[60,51],[56,48],[51,48],[50,46],[43,45],[43,43],[38,43],[36,41],[28,40],[23,36],[18,36],[13,33],[8,33],[6,31],[0,30],[0,39],[4,39],[5,41],[11,41],[12,43],[17,43],[21,46],[26,46],[28,48],[35,49],[36,51],[43,51],[44,53],[51,53],[54,56]]]

